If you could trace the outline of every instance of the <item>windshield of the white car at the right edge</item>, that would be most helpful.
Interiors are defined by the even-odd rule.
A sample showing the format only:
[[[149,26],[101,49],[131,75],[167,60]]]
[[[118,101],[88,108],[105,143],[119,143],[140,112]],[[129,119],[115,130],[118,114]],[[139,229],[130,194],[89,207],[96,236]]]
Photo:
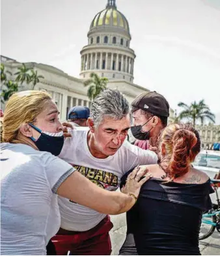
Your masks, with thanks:
[[[198,154],[193,165],[220,169],[220,156],[213,154]]]

